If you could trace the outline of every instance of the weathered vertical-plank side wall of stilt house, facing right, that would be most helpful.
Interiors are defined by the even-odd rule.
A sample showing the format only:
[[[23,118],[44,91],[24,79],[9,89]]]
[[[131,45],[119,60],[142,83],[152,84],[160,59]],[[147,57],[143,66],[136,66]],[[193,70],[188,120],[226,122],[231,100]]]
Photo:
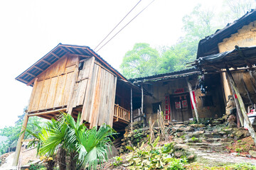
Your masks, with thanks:
[[[82,118],[90,123],[90,128],[103,123],[112,126],[117,77],[95,62],[90,78],[90,85],[80,84],[81,87],[78,87],[86,89],[87,94],[82,107]]]

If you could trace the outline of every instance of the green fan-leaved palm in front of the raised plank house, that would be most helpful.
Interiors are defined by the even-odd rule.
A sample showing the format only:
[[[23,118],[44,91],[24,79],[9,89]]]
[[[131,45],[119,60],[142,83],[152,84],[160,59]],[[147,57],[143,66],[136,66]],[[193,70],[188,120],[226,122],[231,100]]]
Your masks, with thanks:
[[[63,147],[69,154],[75,153],[73,161],[80,169],[97,169],[97,165],[107,161],[107,152],[112,147],[112,135],[116,134],[109,125],[101,125],[87,129],[80,125],[80,114],[75,122],[71,115],[62,113],[58,120],[52,119],[46,126],[38,127],[39,132],[33,133],[39,142],[38,153],[52,157]]]

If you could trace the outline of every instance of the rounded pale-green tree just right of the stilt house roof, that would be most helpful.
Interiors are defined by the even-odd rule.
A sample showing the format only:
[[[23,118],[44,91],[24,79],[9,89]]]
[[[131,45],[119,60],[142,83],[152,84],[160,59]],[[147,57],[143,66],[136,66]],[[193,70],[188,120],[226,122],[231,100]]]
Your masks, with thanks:
[[[158,72],[159,52],[146,43],[136,43],[128,51],[120,66],[122,74],[128,79],[146,77]]]

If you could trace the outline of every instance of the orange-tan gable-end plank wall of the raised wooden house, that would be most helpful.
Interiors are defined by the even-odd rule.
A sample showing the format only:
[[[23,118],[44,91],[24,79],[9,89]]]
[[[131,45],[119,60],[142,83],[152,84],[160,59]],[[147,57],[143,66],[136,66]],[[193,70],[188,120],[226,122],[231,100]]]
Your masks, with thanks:
[[[79,59],[65,55],[42,72],[34,81],[28,112],[68,105]]]

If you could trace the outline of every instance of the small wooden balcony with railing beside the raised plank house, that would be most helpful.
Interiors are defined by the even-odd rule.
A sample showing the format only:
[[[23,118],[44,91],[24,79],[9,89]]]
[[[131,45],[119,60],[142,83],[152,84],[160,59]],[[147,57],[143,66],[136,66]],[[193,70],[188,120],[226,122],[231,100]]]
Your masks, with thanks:
[[[122,123],[128,125],[130,122],[131,113],[125,108],[114,104],[114,121],[113,123]]]

